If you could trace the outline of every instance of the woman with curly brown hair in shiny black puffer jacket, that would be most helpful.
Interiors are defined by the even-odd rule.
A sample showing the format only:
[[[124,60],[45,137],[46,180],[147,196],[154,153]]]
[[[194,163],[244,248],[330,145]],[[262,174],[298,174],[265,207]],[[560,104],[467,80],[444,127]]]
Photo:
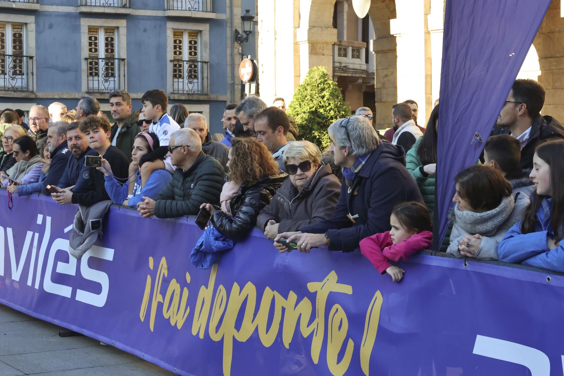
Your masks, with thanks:
[[[250,232],[288,174],[254,138],[234,138],[228,157],[229,181],[221,192],[221,210],[210,204],[201,207],[210,211],[211,223],[221,235],[235,239]]]

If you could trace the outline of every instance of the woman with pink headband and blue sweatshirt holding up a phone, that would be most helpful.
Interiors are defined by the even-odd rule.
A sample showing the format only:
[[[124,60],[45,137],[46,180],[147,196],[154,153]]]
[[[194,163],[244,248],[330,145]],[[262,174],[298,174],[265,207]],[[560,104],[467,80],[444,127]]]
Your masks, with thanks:
[[[147,183],[141,184],[140,167],[145,162],[153,162],[156,160],[164,160],[168,149],[160,148],[158,137],[154,133],[140,132],[134,140],[133,151],[131,152],[131,165],[129,167],[129,182],[121,185],[117,182],[112,174],[109,163],[102,158],[102,167],[98,167],[99,171],[104,172],[104,187],[108,196],[114,204],[127,205],[137,207],[137,203],[143,201],[143,196],[155,197],[170,182],[172,175],[166,170],[153,171]],[[133,194],[127,194],[127,185],[135,183]]]

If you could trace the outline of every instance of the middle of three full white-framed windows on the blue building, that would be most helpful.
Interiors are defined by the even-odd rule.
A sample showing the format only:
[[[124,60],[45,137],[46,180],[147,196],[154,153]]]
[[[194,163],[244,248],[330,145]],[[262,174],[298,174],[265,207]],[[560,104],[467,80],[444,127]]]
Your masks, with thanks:
[[[124,89],[125,59],[117,56],[117,39],[117,28],[88,26],[88,92]]]

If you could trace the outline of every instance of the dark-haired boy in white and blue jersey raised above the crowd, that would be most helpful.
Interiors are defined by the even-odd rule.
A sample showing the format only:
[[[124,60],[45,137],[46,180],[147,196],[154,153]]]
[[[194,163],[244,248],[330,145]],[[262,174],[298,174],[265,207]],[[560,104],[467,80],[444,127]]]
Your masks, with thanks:
[[[180,126],[166,113],[169,105],[166,93],[159,89],[149,90],[141,97],[141,103],[143,103],[145,118],[153,120],[149,132],[158,136],[161,146],[168,146],[170,135],[179,130]]]

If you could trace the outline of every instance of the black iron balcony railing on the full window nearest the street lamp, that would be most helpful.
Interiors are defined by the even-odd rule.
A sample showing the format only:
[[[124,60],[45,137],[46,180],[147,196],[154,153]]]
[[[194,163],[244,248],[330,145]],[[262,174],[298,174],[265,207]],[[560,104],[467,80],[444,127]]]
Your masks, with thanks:
[[[209,61],[170,60],[173,94],[209,94]]]

